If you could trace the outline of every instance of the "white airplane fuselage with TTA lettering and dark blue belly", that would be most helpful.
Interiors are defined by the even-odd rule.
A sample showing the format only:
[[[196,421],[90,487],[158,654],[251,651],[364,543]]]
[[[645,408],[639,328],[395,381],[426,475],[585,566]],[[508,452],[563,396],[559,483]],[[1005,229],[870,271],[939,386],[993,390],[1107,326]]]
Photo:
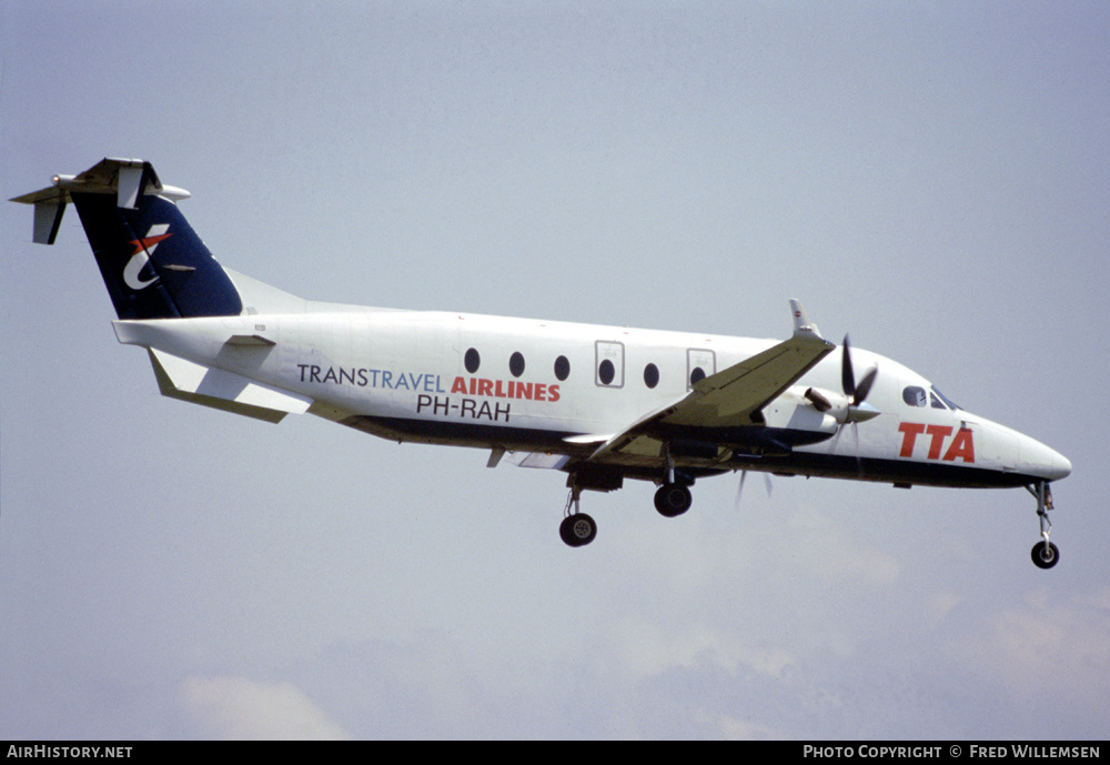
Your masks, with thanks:
[[[297,393],[313,401],[310,413],[385,439],[583,456],[596,441],[576,439],[616,433],[686,395],[692,379],[776,342],[379,309],[119,321],[117,328],[121,342]],[[229,343],[232,336],[258,342]],[[852,353],[859,368],[879,370],[868,401],[880,414],[855,425],[857,434],[839,433],[841,425],[803,396],[810,387],[838,390],[840,362],[830,354],[764,407],[765,427],[724,437],[715,429],[688,429],[676,436],[689,453],[677,450],[675,465],[700,474],[763,470],[947,486],[1017,486],[1067,474],[1063,457],[944,403],[906,366]],[[719,442],[730,447],[709,446]],[[776,453],[769,443],[789,451]],[[645,477],[662,474],[658,453],[614,461],[640,467]]]

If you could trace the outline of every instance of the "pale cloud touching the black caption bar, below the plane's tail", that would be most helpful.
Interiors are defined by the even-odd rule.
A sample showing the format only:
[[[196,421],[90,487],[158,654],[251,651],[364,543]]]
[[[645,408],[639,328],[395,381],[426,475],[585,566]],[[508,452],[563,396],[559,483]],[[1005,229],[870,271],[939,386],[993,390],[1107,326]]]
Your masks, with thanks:
[[[244,677],[189,677],[181,703],[202,736],[220,739],[325,741],[350,738],[290,683]]]

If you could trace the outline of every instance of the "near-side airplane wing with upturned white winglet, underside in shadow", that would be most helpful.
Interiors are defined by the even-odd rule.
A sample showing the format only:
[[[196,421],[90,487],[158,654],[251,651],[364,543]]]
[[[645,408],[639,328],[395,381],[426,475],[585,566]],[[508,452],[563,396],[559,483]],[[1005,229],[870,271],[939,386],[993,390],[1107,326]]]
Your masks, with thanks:
[[[613,452],[658,454],[659,436],[682,429],[750,427],[763,424],[765,405],[783,394],[836,346],[820,336],[797,301],[790,301],[794,336],[695,383],[682,399],[646,414],[609,437],[589,456]]]

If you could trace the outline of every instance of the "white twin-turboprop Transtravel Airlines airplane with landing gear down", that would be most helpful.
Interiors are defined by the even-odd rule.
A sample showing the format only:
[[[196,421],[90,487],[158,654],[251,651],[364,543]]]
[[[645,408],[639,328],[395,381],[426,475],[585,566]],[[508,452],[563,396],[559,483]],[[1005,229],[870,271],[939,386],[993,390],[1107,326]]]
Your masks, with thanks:
[[[563,471],[559,533],[573,547],[597,533],[584,490],[652,481],[656,509],[675,516],[697,479],[763,471],[1026,486],[1043,537],[1033,563],[1059,560],[1049,484],[1071,472],[1067,459],[847,336],[834,353],[797,301],[783,342],[310,302],[216,263],[178,210],[188,197],[149,162],[105,159],[13,200],[34,205],[34,241],[47,244],[77,207],[115,334],[147,349],[163,395]]]

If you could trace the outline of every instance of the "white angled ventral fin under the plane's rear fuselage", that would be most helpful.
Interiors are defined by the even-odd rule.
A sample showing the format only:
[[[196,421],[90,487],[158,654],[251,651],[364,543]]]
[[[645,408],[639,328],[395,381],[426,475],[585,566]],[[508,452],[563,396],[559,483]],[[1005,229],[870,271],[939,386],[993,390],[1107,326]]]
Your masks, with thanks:
[[[286,414],[303,414],[312,405],[307,396],[233,372],[196,364],[164,351],[150,349],[149,353],[158,387],[171,399],[275,423]]]

